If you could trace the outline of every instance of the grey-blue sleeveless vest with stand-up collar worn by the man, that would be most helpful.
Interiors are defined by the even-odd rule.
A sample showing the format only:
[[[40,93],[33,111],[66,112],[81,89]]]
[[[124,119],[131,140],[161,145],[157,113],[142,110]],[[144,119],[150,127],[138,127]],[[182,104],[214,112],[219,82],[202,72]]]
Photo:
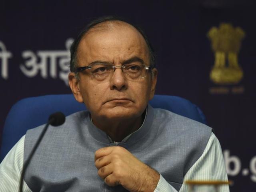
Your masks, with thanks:
[[[44,125],[28,130],[24,162]],[[148,112],[143,126],[126,142],[112,143],[107,134],[90,121],[88,111],[66,117],[59,127],[49,127],[25,174],[33,192],[126,191],[110,187],[98,176],[94,153],[106,146],[122,146],[157,170],[176,190],[183,177],[204,152],[212,129],[163,109]]]

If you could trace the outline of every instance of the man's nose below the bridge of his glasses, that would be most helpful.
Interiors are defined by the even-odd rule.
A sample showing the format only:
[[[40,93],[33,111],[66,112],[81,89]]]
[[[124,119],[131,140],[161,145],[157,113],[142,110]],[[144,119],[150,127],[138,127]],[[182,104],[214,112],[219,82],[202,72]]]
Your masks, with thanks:
[[[125,90],[127,89],[127,80],[122,72],[121,67],[116,67],[114,74],[110,79],[110,89],[111,90]]]

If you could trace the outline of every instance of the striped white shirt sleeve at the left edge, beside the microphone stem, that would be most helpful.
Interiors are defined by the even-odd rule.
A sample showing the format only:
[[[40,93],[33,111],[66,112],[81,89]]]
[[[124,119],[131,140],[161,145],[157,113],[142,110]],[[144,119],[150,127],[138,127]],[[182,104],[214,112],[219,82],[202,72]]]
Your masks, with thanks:
[[[0,192],[18,192],[20,186],[20,175],[23,168],[24,154],[23,136],[8,152],[0,164]],[[23,192],[32,192],[26,182],[23,182]]]

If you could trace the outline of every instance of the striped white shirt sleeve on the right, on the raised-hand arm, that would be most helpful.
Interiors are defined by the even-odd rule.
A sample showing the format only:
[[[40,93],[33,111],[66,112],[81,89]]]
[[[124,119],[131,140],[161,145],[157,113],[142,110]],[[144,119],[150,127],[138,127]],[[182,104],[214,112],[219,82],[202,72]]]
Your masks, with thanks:
[[[184,176],[186,180],[219,180],[228,181],[226,168],[220,142],[212,133],[210,139],[204,149],[202,156],[188,170]],[[182,184],[180,192],[187,192],[188,185]],[[229,192],[228,185],[219,186],[219,191]],[[177,192],[166,180],[161,176],[154,192]]]

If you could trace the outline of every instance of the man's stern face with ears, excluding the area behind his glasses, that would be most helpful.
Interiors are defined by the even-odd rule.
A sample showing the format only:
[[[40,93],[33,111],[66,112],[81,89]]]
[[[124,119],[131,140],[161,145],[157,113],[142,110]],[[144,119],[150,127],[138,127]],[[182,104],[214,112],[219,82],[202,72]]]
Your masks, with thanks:
[[[131,26],[117,26],[108,30],[86,34],[78,46],[78,66],[88,66],[100,61],[121,66],[124,61],[137,57],[147,66],[149,54],[143,37]],[[129,119],[144,112],[153,98],[156,86],[155,75],[148,72],[145,78],[127,80],[117,68],[108,81],[98,81],[86,70],[79,72],[80,80],[70,73],[70,87],[78,102],[84,102],[92,118]]]

